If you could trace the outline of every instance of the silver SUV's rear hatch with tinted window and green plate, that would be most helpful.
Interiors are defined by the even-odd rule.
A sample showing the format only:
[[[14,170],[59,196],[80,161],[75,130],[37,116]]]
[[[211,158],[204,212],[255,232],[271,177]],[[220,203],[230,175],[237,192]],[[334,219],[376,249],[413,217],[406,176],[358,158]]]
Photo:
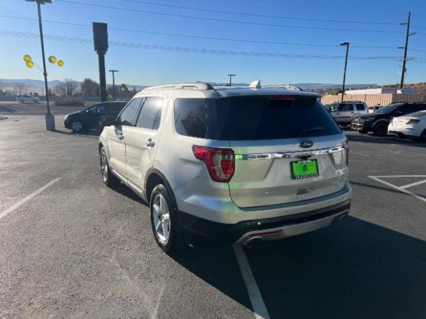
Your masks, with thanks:
[[[207,112],[207,121],[219,123],[212,133],[228,140],[235,154],[228,185],[237,206],[298,202],[345,186],[346,138],[316,97],[252,95],[210,101],[216,111]]]

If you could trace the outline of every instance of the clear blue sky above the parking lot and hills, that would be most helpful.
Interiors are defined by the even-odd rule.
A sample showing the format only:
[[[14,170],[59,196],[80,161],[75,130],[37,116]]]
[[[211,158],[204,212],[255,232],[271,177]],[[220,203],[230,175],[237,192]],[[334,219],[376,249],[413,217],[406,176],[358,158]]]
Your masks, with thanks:
[[[423,51],[409,51],[409,57],[420,57],[426,61],[426,1],[408,0],[341,0],[288,1],[288,0],[146,0],[150,3],[186,6],[219,11],[261,14],[280,17],[297,17],[323,20],[345,20],[358,22],[391,23],[339,23],[312,20],[289,20],[274,17],[257,17],[219,12],[171,8],[129,0],[69,0],[70,2],[94,3],[121,7],[130,10],[104,9],[75,3],[53,0],[42,6],[43,20],[91,25],[105,22],[111,28],[142,31],[189,34],[202,37],[219,37],[267,42],[312,43],[338,45],[350,42],[353,57],[402,57],[405,40],[407,12],[412,11],[412,31],[422,32],[410,37],[409,47]],[[314,4],[313,4],[314,3]],[[386,4],[385,4],[386,3]],[[136,11],[139,10],[139,11]],[[247,21],[254,24],[229,23],[214,20],[150,14],[140,11],[155,11],[193,17],[210,17],[222,20]],[[0,14],[14,17],[37,17],[35,3],[24,0],[0,0]],[[355,30],[383,30],[387,32],[337,31],[322,29],[288,28],[261,24],[281,24],[309,28],[344,28]],[[394,25],[395,24],[395,25]],[[417,28],[419,29],[417,29]],[[421,29],[423,28],[423,29]],[[45,22],[46,35],[92,39],[92,28]],[[34,20],[0,17],[1,31],[38,33]],[[0,32],[1,32],[0,31]],[[394,32],[396,31],[396,32]],[[116,42],[144,43],[160,46],[186,48],[210,48],[244,52],[267,52],[280,54],[308,54],[344,56],[345,48],[320,46],[290,46],[271,43],[250,43],[226,40],[209,40],[192,37],[177,37],[141,32],[109,30],[109,40]],[[41,64],[40,43],[37,38],[11,37],[0,34],[0,78],[43,79],[37,68],[26,68],[22,56],[30,54]],[[92,44],[46,40],[46,55],[55,55],[65,61],[63,68],[49,71],[49,80],[71,77],[83,80],[91,77],[98,81],[98,60]],[[355,48],[355,46],[386,46],[393,48]],[[260,79],[263,84],[299,82],[341,83],[343,58],[288,58],[246,56],[235,54],[206,54],[180,51],[154,50],[110,46],[106,55],[106,68],[118,69],[118,83],[135,85],[157,85],[180,81],[227,81],[227,74],[237,76],[235,82],[248,83]],[[400,80],[400,62],[394,59],[354,60],[348,63],[347,83],[390,84]],[[406,83],[426,82],[426,63],[408,63]],[[107,74],[107,83],[111,83]]]

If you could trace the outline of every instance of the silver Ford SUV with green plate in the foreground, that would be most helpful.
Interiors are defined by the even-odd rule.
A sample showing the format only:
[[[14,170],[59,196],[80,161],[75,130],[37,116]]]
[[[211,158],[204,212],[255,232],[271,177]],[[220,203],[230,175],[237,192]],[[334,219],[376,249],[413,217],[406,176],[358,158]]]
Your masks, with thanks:
[[[101,175],[150,205],[158,245],[251,245],[326,227],[351,204],[348,142],[318,95],[279,86],[146,88],[103,117]]]

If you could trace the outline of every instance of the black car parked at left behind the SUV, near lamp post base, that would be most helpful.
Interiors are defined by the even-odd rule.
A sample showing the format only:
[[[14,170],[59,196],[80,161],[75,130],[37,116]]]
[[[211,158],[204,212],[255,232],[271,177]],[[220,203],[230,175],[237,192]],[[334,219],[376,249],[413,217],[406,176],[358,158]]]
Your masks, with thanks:
[[[94,104],[83,111],[66,115],[63,120],[63,126],[75,132],[90,129],[100,130],[102,129],[102,126],[99,124],[101,117],[116,117],[126,104],[127,102],[121,101]]]

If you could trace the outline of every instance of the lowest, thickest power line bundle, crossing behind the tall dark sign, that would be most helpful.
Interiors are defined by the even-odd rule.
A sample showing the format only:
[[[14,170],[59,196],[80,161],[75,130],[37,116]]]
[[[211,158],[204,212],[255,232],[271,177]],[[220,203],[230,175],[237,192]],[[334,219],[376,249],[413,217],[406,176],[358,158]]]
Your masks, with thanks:
[[[29,37],[37,38],[38,34],[29,32],[17,32],[0,30],[0,35],[12,36],[12,37]],[[46,40],[74,42],[74,43],[86,43],[92,44],[92,39],[87,38],[76,38],[76,37],[65,37],[59,35],[46,34],[44,36]],[[192,53],[209,53],[209,54],[227,54],[227,55],[246,55],[254,57],[287,57],[287,58],[311,58],[311,59],[343,59],[344,56],[338,55],[326,55],[326,54],[285,54],[285,53],[271,53],[271,52],[252,52],[252,51],[236,51],[236,50],[222,50],[222,49],[211,49],[211,48],[190,48],[181,46],[164,46],[164,45],[153,45],[146,43],[129,43],[120,41],[109,41],[110,46],[119,46],[126,48],[143,48],[143,49],[154,49],[162,51],[181,51],[181,52],[192,52]],[[398,57],[393,56],[351,56],[352,60],[394,60]]]

